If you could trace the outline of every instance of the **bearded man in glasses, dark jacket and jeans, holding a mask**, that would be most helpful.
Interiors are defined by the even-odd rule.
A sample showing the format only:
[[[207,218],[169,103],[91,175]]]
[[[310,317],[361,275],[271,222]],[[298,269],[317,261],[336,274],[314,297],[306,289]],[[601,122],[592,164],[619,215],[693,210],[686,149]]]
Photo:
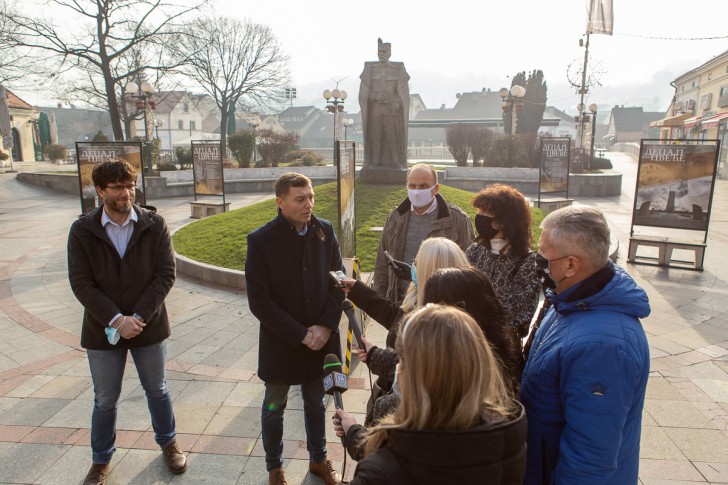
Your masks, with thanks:
[[[93,464],[85,485],[103,484],[116,451],[116,409],[127,353],[147,396],[155,440],[172,473],[187,459],[176,441],[172,399],[165,380],[170,324],[164,300],[175,280],[172,240],[155,210],[134,204],[137,174],[123,160],[94,167],[103,205],[81,215],[68,238],[68,277],[84,306],[81,346],[94,385]]]

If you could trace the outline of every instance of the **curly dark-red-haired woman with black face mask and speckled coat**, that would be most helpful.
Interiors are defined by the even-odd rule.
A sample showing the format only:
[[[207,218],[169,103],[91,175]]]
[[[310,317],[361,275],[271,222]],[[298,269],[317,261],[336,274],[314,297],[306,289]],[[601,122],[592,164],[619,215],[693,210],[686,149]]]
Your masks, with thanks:
[[[516,348],[528,335],[538,307],[540,280],[531,251],[531,209],[519,191],[503,184],[484,188],[473,198],[478,236],[465,254],[490,279],[505,313]]]

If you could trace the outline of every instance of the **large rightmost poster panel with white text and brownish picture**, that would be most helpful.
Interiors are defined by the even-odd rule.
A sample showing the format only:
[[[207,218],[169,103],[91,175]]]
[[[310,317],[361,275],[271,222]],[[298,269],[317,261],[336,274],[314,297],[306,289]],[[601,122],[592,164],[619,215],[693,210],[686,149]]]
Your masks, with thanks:
[[[720,143],[642,140],[632,224],[707,231]]]

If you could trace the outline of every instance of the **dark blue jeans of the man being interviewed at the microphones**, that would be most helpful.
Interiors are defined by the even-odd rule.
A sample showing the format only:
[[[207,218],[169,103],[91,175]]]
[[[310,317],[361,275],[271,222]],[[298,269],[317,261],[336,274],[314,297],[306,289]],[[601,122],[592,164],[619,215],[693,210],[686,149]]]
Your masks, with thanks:
[[[283,382],[266,382],[261,416],[265,467],[268,471],[283,466],[283,411],[288,403],[290,385]],[[303,396],[303,421],[306,427],[306,449],[311,463],[326,459],[326,408],[324,384],[314,379],[301,384]]]

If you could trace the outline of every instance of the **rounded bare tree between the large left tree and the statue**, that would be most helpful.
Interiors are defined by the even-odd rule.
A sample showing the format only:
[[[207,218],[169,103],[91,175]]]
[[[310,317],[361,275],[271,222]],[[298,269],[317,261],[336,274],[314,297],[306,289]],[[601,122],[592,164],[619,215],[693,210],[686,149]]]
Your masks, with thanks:
[[[173,43],[180,72],[199,84],[220,109],[221,153],[226,153],[230,105],[270,106],[290,83],[289,59],[270,27],[250,20],[204,17]]]

